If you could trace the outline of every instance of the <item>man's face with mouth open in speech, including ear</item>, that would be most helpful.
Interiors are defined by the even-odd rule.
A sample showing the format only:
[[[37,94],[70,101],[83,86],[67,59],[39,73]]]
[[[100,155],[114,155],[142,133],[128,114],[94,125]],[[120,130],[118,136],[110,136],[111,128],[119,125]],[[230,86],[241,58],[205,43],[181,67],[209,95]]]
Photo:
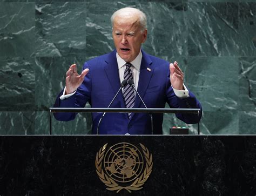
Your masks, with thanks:
[[[118,17],[113,21],[112,36],[114,46],[116,46],[118,55],[126,62],[132,62],[140,52],[140,46],[145,42],[147,30],[142,28],[137,16]]]

